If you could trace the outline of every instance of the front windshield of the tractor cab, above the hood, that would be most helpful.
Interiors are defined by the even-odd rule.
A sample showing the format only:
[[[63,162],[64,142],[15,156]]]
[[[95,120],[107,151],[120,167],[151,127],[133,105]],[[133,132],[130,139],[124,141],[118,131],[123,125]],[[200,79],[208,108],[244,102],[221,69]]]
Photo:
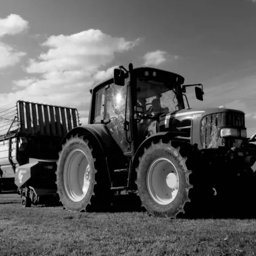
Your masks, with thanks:
[[[169,113],[180,110],[177,87],[173,83],[137,78],[137,105],[143,106],[144,113]]]

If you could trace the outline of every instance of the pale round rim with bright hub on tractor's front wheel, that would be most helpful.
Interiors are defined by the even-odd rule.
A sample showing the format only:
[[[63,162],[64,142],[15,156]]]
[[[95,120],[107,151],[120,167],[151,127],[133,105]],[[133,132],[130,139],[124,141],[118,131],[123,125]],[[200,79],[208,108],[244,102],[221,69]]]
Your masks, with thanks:
[[[167,158],[157,158],[151,163],[146,181],[152,199],[161,205],[174,201],[179,191],[179,174]]]

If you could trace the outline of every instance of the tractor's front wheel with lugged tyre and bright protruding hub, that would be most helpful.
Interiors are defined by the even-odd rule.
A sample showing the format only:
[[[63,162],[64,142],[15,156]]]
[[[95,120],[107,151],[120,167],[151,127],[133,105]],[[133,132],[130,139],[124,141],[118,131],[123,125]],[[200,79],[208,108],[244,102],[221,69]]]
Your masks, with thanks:
[[[142,206],[149,215],[176,218],[184,212],[190,202],[188,191],[191,171],[186,165],[187,157],[180,154],[181,148],[174,148],[171,142],[151,144],[144,149],[137,168],[137,188]]]

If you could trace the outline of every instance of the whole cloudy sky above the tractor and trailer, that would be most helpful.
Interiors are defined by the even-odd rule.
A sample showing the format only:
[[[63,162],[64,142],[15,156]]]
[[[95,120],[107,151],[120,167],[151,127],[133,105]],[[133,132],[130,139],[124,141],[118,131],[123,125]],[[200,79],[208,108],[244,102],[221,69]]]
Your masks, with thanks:
[[[190,107],[235,108],[256,130],[256,0],[0,0],[0,106],[77,107],[119,65],[178,73]]]

